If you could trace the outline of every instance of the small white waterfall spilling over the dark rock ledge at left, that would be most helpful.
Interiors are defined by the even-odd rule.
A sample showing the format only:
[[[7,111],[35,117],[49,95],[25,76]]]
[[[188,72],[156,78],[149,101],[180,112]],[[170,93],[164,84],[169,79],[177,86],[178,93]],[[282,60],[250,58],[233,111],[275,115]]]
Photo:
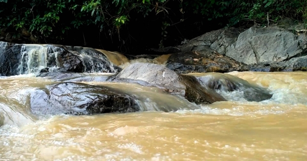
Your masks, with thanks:
[[[57,55],[63,51],[51,45],[22,45],[18,74],[37,75],[42,68],[46,67],[49,71],[56,70],[60,67]]]

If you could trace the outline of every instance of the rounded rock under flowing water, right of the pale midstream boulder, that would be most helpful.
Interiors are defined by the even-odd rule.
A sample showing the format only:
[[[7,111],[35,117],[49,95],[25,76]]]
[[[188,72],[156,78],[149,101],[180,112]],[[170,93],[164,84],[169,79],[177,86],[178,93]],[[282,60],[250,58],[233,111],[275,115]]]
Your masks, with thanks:
[[[247,101],[264,101],[272,98],[272,91],[268,88],[258,86],[256,84],[250,84],[248,81],[240,79],[238,77],[221,74],[221,73],[206,73],[196,76],[200,84],[219,91],[222,96],[223,91],[237,91],[239,93],[236,99],[243,97]],[[242,95],[240,95],[242,94]],[[231,94],[234,95],[234,94]],[[234,97],[234,96],[233,96]]]

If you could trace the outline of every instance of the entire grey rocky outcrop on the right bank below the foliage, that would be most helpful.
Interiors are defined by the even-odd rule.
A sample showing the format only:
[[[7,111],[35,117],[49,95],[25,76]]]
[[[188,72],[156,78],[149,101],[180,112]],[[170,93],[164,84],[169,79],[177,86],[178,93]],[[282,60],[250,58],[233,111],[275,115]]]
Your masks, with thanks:
[[[307,55],[307,36],[299,33],[297,27],[279,28],[276,26],[267,28],[251,27],[247,30],[238,28],[226,28],[208,32],[202,36],[186,41],[179,46],[181,52],[208,52],[220,54],[232,60],[238,66],[232,68],[227,65],[224,69],[213,72],[229,71],[297,71],[304,66],[303,59],[297,58]],[[291,31],[289,31],[291,29]],[[295,30],[294,30],[295,29]],[[293,33],[294,31],[294,33]],[[214,53],[213,53],[214,52]],[[212,56],[211,56],[212,57]],[[198,60],[193,55],[173,59],[170,57],[168,67],[179,73],[210,72],[206,70],[208,64],[191,63],[188,59]],[[208,58],[208,57],[207,57]],[[210,59],[210,58],[209,58]],[[211,61],[214,61],[211,58]],[[216,64],[218,62],[214,61]],[[292,65],[295,64],[296,65]],[[211,65],[209,65],[211,66]],[[216,65],[218,66],[218,65]],[[180,72],[181,71],[181,72]]]

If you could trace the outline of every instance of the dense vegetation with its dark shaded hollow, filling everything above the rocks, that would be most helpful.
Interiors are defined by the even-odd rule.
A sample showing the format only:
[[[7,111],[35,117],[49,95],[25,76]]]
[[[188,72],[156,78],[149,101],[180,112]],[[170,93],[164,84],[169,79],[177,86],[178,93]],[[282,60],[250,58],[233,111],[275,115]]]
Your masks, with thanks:
[[[15,38],[131,52],[225,26],[266,26],[283,17],[307,24],[307,1],[0,0],[0,15],[2,33]]]

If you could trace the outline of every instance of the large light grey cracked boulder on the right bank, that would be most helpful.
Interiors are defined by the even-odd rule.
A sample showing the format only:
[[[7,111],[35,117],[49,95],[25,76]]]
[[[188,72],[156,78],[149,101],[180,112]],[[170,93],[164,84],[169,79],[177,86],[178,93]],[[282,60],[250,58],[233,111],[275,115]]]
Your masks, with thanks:
[[[278,27],[252,27],[230,45],[226,56],[245,64],[284,61],[303,52],[298,37]]]

